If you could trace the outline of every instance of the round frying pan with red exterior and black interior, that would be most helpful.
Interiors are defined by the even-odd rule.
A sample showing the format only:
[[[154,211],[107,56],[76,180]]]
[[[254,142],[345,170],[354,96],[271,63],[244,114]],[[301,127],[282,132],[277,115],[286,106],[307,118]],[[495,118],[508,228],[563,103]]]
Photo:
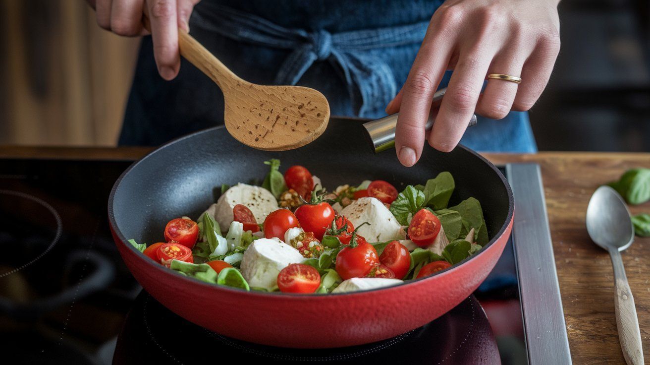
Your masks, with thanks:
[[[456,189],[450,205],[480,200],[491,240],[465,262],[430,277],[354,293],[300,295],[216,286],[166,269],[127,239],[155,243],[172,218],[198,217],[216,200],[222,183],[265,176],[270,158],[282,169],[304,165],[330,189],[363,180],[387,180],[398,190],[450,171]],[[169,142],[137,161],[115,183],[109,221],[122,258],[157,301],[179,316],[225,336],[298,348],[344,347],[385,340],[421,327],[467,298],[494,267],[510,236],[512,191],[486,159],[458,146],[448,154],[425,148],[414,167],[395,154],[374,154],[361,121],[332,119],[326,132],[297,150],[264,152],[240,144],[223,127]],[[170,334],[177,336],[178,334]]]

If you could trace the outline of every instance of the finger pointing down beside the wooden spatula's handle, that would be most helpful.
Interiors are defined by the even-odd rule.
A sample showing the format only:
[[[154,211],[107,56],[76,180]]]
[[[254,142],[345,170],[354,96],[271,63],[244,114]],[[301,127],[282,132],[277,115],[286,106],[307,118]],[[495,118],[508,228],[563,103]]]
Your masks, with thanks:
[[[174,0],[147,1],[153,56],[163,79],[171,80],[178,74],[178,20]]]

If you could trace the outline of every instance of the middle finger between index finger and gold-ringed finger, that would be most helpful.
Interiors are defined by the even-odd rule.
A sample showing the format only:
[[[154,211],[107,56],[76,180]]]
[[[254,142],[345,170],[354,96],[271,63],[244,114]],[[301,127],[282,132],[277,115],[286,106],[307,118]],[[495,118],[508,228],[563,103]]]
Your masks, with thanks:
[[[463,137],[492,56],[489,49],[460,54],[429,135],[429,144],[436,150],[450,152]]]

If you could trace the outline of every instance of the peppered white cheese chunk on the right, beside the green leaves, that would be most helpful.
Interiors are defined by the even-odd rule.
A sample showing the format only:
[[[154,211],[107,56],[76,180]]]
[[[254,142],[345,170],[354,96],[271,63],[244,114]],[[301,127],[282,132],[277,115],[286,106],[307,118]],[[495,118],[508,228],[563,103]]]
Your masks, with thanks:
[[[357,233],[368,242],[383,242],[389,239],[404,239],[406,234],[393,213],[377,198],[366,196],[354,200],[341,211],[352,222]],[[361,226],[361,223],[368,222]]]

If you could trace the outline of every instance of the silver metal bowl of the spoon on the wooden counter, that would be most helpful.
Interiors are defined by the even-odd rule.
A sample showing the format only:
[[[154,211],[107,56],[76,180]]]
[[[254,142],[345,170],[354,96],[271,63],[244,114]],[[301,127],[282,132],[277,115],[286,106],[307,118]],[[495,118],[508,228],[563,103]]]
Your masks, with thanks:
[[[623,198],[609,186],[596,189],[587,207],[587,231],[605,250],[623,251],[634,241],[634,226]]]

